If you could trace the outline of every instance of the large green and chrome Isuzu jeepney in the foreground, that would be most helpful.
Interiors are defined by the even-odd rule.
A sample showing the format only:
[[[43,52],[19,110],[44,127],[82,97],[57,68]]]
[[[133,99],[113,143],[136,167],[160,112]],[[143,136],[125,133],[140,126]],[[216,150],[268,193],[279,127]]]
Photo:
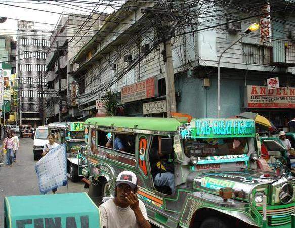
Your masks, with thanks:
[[[118,173],[130,170],[138,177],[137,196],[149,221],[159,227],[295,225],[295,182],[257,168],[261,148],[253,120],[102,117],[87,119],[85,127],[89,149],[83,152],[83,180],[90,196],[114,196]],[[106,147],[117,137],[128,142],[124,151]],[[171,149],[175,194],[153,182],[155,143],[161,151]]]

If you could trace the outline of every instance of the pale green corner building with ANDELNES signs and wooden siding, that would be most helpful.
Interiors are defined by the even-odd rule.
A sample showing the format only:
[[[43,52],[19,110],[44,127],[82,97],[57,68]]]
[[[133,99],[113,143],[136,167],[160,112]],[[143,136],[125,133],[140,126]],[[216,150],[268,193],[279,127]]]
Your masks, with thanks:
[[[171,42],[177,112],[196,118],[218,116],[219,56],[240,39],[249,25],[258,23],[260,30],[244,36],[221,57],[220,117],[254,111],[266,116],[278,128],[288,130],[286,122],[295,116],[293,5],[260,2],[261,6],[251,11],[251,5],[241,9],[239,1],[231,3],[228,6],[207,2],[191,17],[193,26],[174,31],[176,35]],[[87,115],[95,115],[95,100],[100,99],[106,89],[117,92],[118,101],[124,106],[123,115],[166,115],[164,106],[157,113],[146,109],[146,106],[165,103],[166,97],[164,47],[163,43],[156,42],[160,23],[154,23],[161,15],[157,14],[157,18],[148,15],[147,12],[153,11],[153,4],[145,3],[138,11],[124,10],[129,5],[132,3],[125,3],[110,15],[74,59],[77,67],[73,77],[79,83],[80,110],[92,110]],[[210,20],[207,9],[217,12],[210,15]],[[270,14],[270,9],[283,9],[284,14]],[[253,12],[259,16],[253,16]],[[280,88],[267,90],[267,79],[273,77],[279,77]],[[153,84],[149,90],[152,93],[146,91],[148,95],[139,96],[138,83],[147,85],[147,79]],[[257,94],[260,96],[255,97]],[[282,100],[284,96],[287,100]]]

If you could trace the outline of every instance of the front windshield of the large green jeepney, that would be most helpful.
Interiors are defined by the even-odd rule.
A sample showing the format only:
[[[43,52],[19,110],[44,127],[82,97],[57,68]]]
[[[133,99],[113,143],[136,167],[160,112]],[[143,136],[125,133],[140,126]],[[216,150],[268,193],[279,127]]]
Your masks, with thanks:
[[[216,156],[248,153],[248,138],[184,139],[185,155]]]

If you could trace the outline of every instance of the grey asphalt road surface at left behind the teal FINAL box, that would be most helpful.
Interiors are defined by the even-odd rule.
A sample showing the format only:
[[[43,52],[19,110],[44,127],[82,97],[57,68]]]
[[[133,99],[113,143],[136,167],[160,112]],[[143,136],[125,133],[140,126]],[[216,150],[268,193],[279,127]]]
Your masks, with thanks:
[[[2,147],[2,146],[1,146]],[[4,161],[6,161],[4,156]],[[17,162],[12,167],[6,163],[0,166],[0,227],[4,227],[4,197],[39,195],[37,175],[33,159],[33,139],[21,138]],[[87,192],[82,182],[68,181],[69,193]],[[67,187],[60,187],[57,193],[66,193]]]

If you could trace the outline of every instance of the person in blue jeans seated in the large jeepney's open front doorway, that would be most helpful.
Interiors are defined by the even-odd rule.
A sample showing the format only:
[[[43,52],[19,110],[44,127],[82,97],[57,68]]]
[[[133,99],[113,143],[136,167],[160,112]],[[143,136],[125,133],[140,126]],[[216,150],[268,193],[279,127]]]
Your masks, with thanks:
[[[154,136],[149,153],[151,174],[155,188],[164,194],[174,194],[174,154],[163,154],[161,136]]]

